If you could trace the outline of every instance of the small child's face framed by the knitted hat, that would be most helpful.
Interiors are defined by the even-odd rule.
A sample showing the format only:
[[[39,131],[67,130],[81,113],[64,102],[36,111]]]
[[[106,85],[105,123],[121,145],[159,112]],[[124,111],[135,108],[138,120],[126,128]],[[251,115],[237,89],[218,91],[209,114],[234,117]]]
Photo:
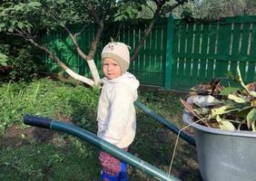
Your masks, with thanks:
[[[103,59],[103,73],[112,80],[122,75],[121,67],[112,58],[105,57]]]

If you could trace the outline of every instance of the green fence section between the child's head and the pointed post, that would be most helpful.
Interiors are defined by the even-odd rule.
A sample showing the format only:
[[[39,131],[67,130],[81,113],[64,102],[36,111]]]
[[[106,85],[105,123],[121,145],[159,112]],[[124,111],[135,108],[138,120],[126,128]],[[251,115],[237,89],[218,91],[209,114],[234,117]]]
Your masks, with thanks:
[[[141,52],[130,65],[132,72],[143,84],[164,86],[164,67],[166,52],[167,19],[161,19],[146,39]],[[139,43],[145,31],[146,24],[126,24],[123,26],[117,40],[127,43],[133,49]]]

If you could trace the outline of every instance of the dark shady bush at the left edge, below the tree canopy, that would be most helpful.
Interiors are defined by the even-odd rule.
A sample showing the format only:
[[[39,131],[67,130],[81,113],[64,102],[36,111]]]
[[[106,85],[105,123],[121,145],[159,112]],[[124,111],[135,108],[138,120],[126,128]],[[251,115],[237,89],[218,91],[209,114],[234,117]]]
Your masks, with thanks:
[[[11,36],[1,36],[3,43],[0,43],[0,52],[3,57],[4,67],[0,61],[0,82],[1,81],[30,81],[44,71],[44,63],[41,61],[41,53],[35,52],[30,45],[24,44],[21,40]],[[7,62],[8,61],[8,65]]]

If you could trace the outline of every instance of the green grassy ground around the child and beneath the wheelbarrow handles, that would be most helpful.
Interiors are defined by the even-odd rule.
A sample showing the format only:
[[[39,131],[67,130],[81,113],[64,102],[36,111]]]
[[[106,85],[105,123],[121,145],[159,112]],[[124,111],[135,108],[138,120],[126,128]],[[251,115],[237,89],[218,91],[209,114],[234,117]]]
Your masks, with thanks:
[[[98,148],[67,134],[25,126],[25,114],[73,122],[96,132],[99,90],[72,81],[49,78],[32,82],[9,82],[0,86],[0,180],[99,180]],[[185,94],[156,88],[140,88],[139,100],[165,119],[182,128]],[[191,132],[191,130],[188,130]],[[137,110],[137,134],[130,152],[166,173],[176,135]],[[132,181],[155,180],[129,166]],[[172,176],[200,180],[196,151],[179,139]]]

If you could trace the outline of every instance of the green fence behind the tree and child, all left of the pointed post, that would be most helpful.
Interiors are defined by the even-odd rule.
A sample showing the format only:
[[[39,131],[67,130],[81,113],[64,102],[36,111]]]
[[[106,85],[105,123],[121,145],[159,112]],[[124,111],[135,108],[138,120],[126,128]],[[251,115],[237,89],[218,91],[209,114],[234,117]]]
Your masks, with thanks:
[[[116,41],[126,43],[133,49],[139,43],[143,36],[147,23],[143,24],[124,24],[121,28],[113,25],[111,28],[119,29],[117,34],[113,34]],[[145,41],[143,48],[134,62],[131,63],[129,71],[138,77],[143,84],[151,84],[164,86],[164,67],[165,67],[165,52],[166,52],[166,26],[167,19],[160,19],[153,27],[153,31]],[[78,33],[80,28],[74,28],[73,33]],[[81,45],[84,52],[88,52],[90,42],[94,37],[94,30],[89,29],[78,36],[78,43]],[[100,53],[103,45],[110,41],[108,35],[103,34],[103,41],[97,48],[94,60],[101,73],[101,57]],[[90,76],[86,62],[84,62],[74,51],[74,47],[67,34],[62,31],[54,31],[44,36],[44,42],[48,47],[61,58],[73,71]],[[62,71],[53,60],[44,57],[47,62],[48,70]]]

